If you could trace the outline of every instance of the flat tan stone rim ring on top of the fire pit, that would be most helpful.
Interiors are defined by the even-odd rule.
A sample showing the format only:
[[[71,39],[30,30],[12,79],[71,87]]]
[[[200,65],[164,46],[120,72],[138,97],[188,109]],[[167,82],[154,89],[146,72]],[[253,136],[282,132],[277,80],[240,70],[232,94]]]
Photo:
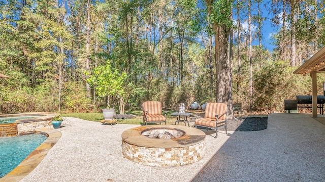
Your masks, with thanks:
[[[150,139],[142,135],[142,131],[150,128],[176,128],[183,130],[185,134],[176,139]],[[201,143],[205,139],[205,133],[197,128],[179,125],[146,125],[130,128],[122,133],[122,140],[128,144],[149,148],[179,148]]]

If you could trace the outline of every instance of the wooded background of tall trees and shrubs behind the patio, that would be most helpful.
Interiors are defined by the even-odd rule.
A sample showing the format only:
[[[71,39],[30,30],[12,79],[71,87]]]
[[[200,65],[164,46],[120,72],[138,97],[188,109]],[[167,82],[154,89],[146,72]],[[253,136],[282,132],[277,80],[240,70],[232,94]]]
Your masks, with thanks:
[[[148,100],[281,112],[284,99],[311,94],[310,76],[293,71],[325,43],[317,0],[0,5],[0,73],[11,76],[0,79],[1,113],[91,112],[107,103],[123,113]],[[277,28],[271,52],[262,43],[266,21]],[[317,76],[322,95],[325,77]]]

